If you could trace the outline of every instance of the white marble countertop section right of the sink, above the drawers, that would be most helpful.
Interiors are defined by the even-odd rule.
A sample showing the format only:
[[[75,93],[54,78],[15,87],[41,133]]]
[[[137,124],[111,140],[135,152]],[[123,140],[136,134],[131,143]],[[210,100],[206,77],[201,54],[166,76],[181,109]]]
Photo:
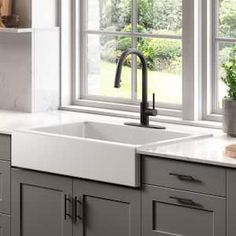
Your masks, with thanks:
[[[190,139],[161,146],[147,145],[138,149],[139,154],[184,160],[216,166],[236,168],[236,159],[225,155],[225,147],[236,144],[236,138],[215,134],[208,138]]]

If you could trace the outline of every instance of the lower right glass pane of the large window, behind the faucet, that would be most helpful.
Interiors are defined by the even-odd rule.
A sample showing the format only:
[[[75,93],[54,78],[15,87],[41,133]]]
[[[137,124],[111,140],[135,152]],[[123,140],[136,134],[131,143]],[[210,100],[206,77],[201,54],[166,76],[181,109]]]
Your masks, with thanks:
[[[138,49],[147,58],[148,96],[157,102],[182,104],[182,41],[139,38]],[[139,65],[140,66],[140,65]],[[138,98],[141,98],[141,70],[138,70]]]

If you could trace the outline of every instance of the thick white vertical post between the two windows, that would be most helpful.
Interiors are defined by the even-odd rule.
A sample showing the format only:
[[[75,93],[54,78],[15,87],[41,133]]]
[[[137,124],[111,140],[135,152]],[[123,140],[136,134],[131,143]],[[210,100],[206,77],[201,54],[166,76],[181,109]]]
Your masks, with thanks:
[[[183,0],[183,119],[199,119],[199,2]],[[197,9],[196,9],[197,8]]]

